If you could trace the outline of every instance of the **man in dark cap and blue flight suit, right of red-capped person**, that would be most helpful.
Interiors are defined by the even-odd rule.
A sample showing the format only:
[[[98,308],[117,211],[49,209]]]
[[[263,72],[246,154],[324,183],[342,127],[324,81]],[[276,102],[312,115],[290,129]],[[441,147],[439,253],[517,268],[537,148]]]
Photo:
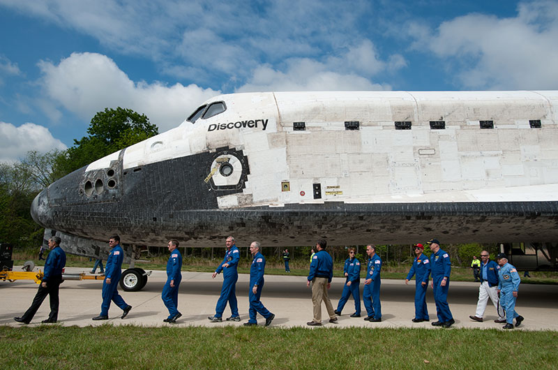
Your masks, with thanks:
[[[449,275],[451,274],[451,261],[448,253],[440,249],[438,239],[430,239],[430,269],[432,271],[432,291],[436,302],[438,320],[433,326],[451,327],[455,324],[448,304]]]

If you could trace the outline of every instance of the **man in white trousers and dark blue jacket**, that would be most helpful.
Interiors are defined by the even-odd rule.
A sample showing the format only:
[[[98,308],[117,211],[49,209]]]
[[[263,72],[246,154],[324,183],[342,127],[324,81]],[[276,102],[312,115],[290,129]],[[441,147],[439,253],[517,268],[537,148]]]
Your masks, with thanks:
[[[481,260],[483,260],[483,262],[481,262],[481,271],[479,272],[481,286],[478,287],[476,313],[475,316],[469,316],[469,318],[482,323],[486,304],[488,304],[488,298],[490,298],[498,313],[498,319],[494,320],[495,323],[505,323],[506,313],[504,313],[504,309],[499,306],[498,298],[498,272],[500,267],[495,261],[490,260],[490,253],[487,251],[481,252]]]

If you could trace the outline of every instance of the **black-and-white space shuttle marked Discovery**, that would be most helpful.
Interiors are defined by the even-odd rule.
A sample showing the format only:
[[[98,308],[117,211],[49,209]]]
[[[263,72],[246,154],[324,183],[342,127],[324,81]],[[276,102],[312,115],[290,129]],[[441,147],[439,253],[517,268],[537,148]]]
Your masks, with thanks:
[[[226,94],[37,195],[45,239],[558,241],[558,91]],[[128,251],[131,256],[132,251]]]

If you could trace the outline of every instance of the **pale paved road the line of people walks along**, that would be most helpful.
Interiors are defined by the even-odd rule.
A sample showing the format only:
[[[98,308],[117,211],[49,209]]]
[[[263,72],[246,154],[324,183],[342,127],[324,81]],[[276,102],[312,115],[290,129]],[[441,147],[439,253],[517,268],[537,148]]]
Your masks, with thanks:
[[[68,273],[86,272],[82,267],[68,267]],[[225,322],[210,323],[208,316],[215,313],[215,306],[220,294],[223,277],[211,278],[207,272],[183,272],[183,280],[179,290],[179,311],[183,316],[176,324],[163,323],[168,311],[160,298],[165,284],[164,271],[153,271],[146,286],[140,292],[128,293],[119,288],[119,292],[126,302],[133,306],[128,317],[121,320],[121,309],[114,304],[109,311],[113,325],[202,325],[214,327],[220,325],[242,325],[248,320],[248,281],[247,274],[240,274],[236,284],[236,297],[239,302],[240,323]],[[337,306],[345,279],[334,278],[329,290],[331,303]],[[100,325],[107,321],[92,321],[91,318],[100,312],[102,281],[64,281],[60,288],[59,323],[61,325]],[[20,326],[13,318],[21,316],[31,304],[38,286],[33,281],[0,281],[0,325]],[[363,281],[361,281],[361,293]],[[362,295],[361,295],[362,297]],[[516,330],[558,330],[556,299],[558,286],[522,284],[516,311],[525,317],[525,321]],[[433,330],[430,323],[412,323],[414,317],[414,281],[405,285],[405,281],[382,280],[380,295],[382,301],[382,323],[368,323],[363,318],[350,318],[354,312],[354,302],[349,302],[342,311],[338,323],[328,323],[328,316],[322,304],[322,323],[324,327],[425,327]],[[469,319],[474,315],[478,298],[478,283],[451,282],[448,302],[455,318],[454,327],[501,328],[502,324],[494,323],[497,318],[495,308],[488,303],[484,323],[477,323]],[[50,311],[48,297],[43,302],[31,325],[40,325],[40,321],[47,318]],[[310,288],[306,287],[304,276],[266,276],[262,293],[262,302],[269,311],[276,314],[272,326],[307,327],[306,322],[312,320],[312,300]],[[436,308],[432,297],[432,290],[427,294],[430,322],[437,320]],[[362,305],[363,317],[365,309]],[[230,316],[227,307],[223,317]],[[259,325],[264,319],[258,316]]]

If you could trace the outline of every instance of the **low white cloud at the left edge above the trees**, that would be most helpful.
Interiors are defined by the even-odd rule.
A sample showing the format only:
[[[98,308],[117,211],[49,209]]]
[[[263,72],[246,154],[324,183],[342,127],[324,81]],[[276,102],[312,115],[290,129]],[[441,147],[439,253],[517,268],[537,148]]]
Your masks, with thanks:
[[[52,149],[66,149],[66,145],[52,137],[48,128],[37,124],[14,126],[0,121],[0,161],[14,162],[36,150],[46,153]]]

